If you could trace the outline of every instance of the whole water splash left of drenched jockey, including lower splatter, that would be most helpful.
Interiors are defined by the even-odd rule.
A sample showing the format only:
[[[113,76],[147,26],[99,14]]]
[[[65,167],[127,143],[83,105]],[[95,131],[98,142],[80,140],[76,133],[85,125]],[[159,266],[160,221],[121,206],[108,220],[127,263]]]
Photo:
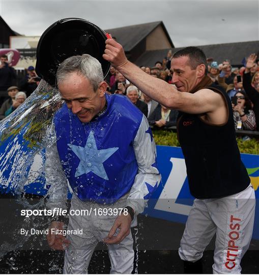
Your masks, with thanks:
[[[55,140],[46,136],[46,130],[61,104],[59,92],[41,80],[34,93],[0,122],[0,193],[4,198],[2,203],[6,199],[6,195],[3,194],[9,194],[9,198],[12,196],[11,203],[17,207],[8,209],[10,215],[13,215],[10,223],[15,224],[8,228],[9,232],[1,233],[8,233],[11,238],[0,243],[0,257],[20,248],[28,240],[30,235],[21,236],[20,228],[30,229],[32,225],[34,228],[42,227],[49,222],[35,216],[22,220],[19,217],[19,209],[44,207],[44,198],[32,204],[25,193],[42,194],[42,189],[45,188],[43,194],[47,194],[41,164],[45,155],[44,148],[53,144]],[[38,182],[35,183],[36,179]],[[34,183],[34,187],[31,183]],[[3,226],[5,229],[6,225]],[[4,236],[1,239],[6,238]]]

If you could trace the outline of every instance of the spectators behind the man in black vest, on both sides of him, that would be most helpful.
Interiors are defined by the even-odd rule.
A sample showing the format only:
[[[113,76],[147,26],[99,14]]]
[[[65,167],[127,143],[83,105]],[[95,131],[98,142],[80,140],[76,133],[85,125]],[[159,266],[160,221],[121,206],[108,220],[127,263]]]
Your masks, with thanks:
[[[174,85],[170,71],[171,58],[172,52],[169,50],[167,56],[162,61],[157,61],[154,67],[140,66],[140,68]],[[256,59],[255,54],[251,54],[240,68],[233,68],[229,60],[224,60],[221,64],[212,58],[207,60],[209,77],[216,85],[220,85],[232,100],[236,130],[259,130],[259,62],[256,63]],[[178,111],[169,110],[142,94],[113,67],[105,80],[109,87],[107,93],[128,96],[130,101],[145,114],[152,127],[168,128],[176,125]]]

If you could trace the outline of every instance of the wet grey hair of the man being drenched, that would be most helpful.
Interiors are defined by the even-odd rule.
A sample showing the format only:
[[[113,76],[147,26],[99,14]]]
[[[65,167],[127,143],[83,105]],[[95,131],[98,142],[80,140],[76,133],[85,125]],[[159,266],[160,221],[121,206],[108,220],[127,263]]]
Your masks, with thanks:
[[[57,84],[64,81],[67,74],[72,72],[78,72],[85,78],[88,78],[95,92],[97,91],[100,82],[103,81],[101,63],[89,54],[73,56],[64,60],[56,72]]]

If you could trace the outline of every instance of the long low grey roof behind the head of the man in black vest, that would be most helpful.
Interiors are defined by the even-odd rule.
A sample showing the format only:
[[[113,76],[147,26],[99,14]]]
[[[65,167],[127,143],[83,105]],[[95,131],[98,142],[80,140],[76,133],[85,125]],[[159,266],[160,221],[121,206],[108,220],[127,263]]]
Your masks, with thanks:
[[[242,64],[244,57],[248,57],[250,53],[259,53],[259,41],[248,41],[248,42],[236,42],[236,43],[225,43],[225,44],[214,44],[214,45],[203,45],[197,46],[202,49],[207,58],[213,58],[218,64],[222,63],[225,59],[229,59],[231,64],[239,66]],[[183,49],[172,48],[172,53]],[[149,50],[144,52],[136,61],[135,64],[138,66],[154,66],[156,61],[162,61],[169,49],[163,50]]]

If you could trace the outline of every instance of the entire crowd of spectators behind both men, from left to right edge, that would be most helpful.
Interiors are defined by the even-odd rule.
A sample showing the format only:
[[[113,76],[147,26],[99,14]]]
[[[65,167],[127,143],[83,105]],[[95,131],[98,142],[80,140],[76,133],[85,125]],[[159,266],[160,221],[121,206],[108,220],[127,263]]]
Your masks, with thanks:
[[[167,56],[162,61],[155,62],[153,67],[140,66],[140,68],[153,77],[174,85],[170,71],[171,58],[172,51],[169,50]],[[3,119],[35,91],[40,78],[35,68],[29,66],[26,75],[19,81],[18,87],[14,86],[15,69],[8,62],[7,56],[1,56],[0,60],[0,119]],[[240,68],[233,68],[229,60],[224,60],[221,64],[212,58],[207,61],[208,75],[211,80],[223,87],[232,100],[236,129],[259,130],[259,62],[257,56],[250,54],[244,66]],[[111,67],[105,80],[108,84],[106,92],[127,96],[148,118],[152,127],[168,128],[176,125],[178,111],[169,110],[142,94],[118,70]]]

